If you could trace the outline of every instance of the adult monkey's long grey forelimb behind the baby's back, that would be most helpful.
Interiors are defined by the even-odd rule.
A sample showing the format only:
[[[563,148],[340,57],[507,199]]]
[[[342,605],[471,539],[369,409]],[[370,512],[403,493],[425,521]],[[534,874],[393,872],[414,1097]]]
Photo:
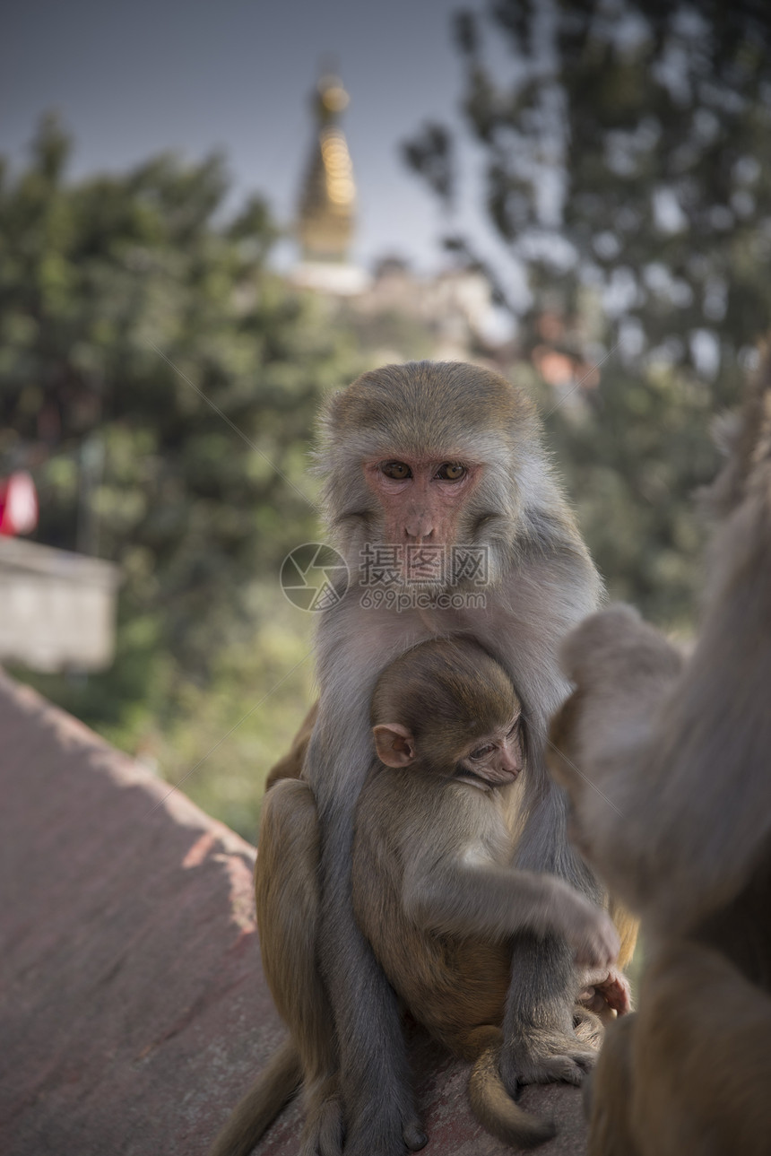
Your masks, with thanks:
[[[333,621],[325,618],[321,628],[329,630]],[[371,658],[369,644],[365,657]],[[372,761],[372,677],[350,660],[341,662],[344,683],[340,675],[327,677],[338,658],[333,652],[320,661],[320,682],[329,689],[303,772],[321,833],[318,959],[340,1054],[346,1156],[403,1156],[405,1146],[417,1150],[427,1138],[415,1111],[396,996],[354,919],[351,894],[354,813]]]

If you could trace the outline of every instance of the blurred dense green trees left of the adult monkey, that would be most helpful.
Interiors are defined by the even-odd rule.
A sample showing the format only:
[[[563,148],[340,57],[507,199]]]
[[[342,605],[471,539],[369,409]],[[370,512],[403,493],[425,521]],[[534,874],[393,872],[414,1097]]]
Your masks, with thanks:
[[[268,269],[260,199],[225,218],[220,160],[68,183],[68,154],[49,118],[29,168],[2,166],[0,474],[29,468],[39,540],[119,563],[124,586],[113,668],[34,681],[175,777],[175,751],[200,758],[309,649],[277,573],[317,534],[305,454],[351,343]],[[270,706],[281,746],[296,718]]]

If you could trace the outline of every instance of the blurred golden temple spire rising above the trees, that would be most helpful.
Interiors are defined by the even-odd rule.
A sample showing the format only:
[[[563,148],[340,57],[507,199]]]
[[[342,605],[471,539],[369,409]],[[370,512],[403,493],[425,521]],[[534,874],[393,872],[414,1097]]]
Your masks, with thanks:
[[[297,232],[303,261],[346,264],[354,232],[356,186],[339,124],[348,94],[338,76],[321,76],[313,95],[318,138],[303,181]]]

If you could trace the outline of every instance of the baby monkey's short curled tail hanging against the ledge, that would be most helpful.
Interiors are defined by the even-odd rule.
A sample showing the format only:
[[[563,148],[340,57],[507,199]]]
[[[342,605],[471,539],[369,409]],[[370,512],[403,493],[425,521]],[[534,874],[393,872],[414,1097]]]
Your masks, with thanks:
[[[498,1070],[501,1030],[479,1029],[477,1038],[483,1050],[472,1068],[468,1099],[482,1127],[512,1148],[535,1148],[551,1140],[557,1131],[554,1122],[531,1116],[514,1103],[504,1087]]]

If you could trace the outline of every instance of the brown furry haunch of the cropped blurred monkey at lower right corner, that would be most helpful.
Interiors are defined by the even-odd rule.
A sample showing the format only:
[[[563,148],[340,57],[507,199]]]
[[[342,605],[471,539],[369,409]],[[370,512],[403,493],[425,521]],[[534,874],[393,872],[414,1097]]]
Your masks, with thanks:
[[[766,1156],[771,1000],[725,955],[670,940],[593,1076],[588,1156]]]

